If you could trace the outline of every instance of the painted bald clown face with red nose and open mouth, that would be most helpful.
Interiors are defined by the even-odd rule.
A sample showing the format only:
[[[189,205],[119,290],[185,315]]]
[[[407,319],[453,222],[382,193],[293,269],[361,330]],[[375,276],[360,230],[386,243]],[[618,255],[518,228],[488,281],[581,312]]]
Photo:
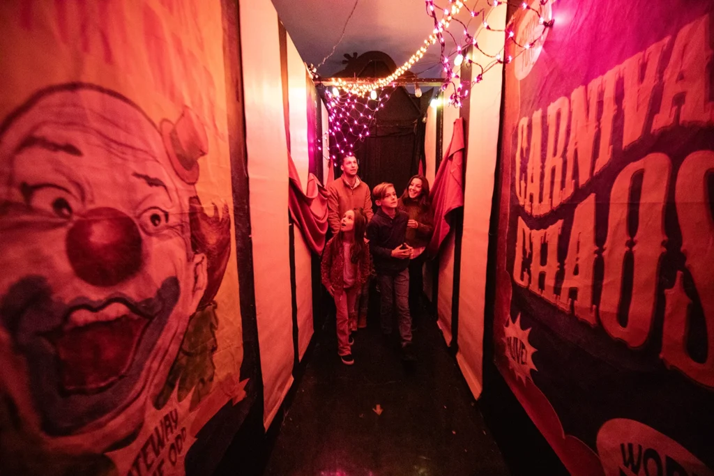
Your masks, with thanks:
[[[206,288],[170,144],[89,87],[37,96],[0,131],[0,388],[51,440],[131,435]]]

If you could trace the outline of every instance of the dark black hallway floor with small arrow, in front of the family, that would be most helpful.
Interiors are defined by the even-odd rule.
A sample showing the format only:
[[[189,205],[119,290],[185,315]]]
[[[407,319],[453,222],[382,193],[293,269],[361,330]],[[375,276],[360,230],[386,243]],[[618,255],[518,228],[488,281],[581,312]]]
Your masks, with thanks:
[[[436,323],[423,323],[414,344],[418,362],[405,367],[370,323],[348,367],[328,319],[265,475],[509,475]]]

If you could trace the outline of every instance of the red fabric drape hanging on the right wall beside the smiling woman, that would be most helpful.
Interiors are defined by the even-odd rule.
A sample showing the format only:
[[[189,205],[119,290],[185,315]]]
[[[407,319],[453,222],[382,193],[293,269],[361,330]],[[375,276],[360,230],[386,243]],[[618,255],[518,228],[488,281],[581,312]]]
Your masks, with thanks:
[[[429,255],[438,253],[441,242],[451,228],[449,213],[463,206],[463,118],[453,123],[453,136],[444,154],[431,189],[434,233],[427,247]]]

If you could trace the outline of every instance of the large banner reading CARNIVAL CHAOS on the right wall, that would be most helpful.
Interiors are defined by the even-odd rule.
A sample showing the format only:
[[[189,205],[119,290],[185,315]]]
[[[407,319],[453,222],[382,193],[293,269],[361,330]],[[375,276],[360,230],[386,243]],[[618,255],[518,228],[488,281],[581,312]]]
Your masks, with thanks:
[[[714,4],[528,6],[496,365],[573,475],[713,475]]]

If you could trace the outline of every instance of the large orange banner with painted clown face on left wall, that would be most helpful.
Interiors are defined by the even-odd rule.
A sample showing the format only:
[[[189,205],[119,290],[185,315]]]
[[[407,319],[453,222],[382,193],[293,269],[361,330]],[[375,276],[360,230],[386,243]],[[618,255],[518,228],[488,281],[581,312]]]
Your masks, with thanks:
[[[190,472],[248,382],[221,4],[0,25],[0,473]]]

